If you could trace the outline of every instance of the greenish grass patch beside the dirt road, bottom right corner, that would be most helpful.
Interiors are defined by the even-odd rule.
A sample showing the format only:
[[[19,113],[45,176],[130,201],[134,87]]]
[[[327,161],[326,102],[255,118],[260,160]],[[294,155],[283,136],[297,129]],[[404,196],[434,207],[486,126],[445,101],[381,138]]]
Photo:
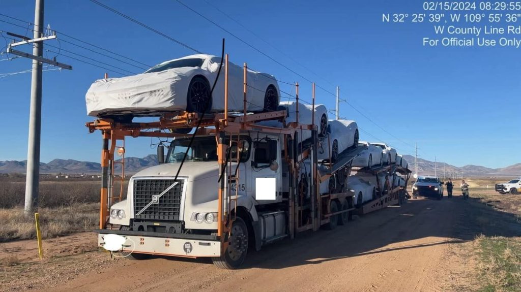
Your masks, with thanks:
[[[521,240],[518,237],[478,236],[481,247],[478,269],[485,282],[480,291],[521,290]]]

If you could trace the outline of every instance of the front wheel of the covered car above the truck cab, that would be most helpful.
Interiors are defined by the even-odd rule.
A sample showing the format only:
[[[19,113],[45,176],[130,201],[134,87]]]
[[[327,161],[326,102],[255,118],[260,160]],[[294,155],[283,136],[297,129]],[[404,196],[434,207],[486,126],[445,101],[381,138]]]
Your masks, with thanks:
[[[210,112],[212,110],[212,95],[208,80],[201,76],[195,76],[188,85],[187,111],[193,113]]]

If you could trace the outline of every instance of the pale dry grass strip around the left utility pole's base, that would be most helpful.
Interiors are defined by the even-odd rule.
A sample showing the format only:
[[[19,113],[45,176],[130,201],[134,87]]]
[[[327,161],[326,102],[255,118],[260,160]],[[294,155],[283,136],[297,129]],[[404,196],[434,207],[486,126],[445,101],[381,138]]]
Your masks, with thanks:
[[[89,231],[99,221],[98,203],[79,203],[55,208],[39,208],[43,238]],[[23,208],[0,209],[0,242],[35,238],[34,218],[23,216]]]

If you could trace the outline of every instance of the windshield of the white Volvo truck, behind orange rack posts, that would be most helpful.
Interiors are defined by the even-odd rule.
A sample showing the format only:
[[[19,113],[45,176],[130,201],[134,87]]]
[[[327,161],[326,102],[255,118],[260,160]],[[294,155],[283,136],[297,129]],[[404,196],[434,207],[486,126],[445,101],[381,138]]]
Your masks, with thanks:
[[[229,143],[229,140],[226,141]],[[217,161],[217,142],[214,136],[196,137],[190,149],[190,138],[182,138],[173,140],[168,149],[167,163],[181,162],[184,153],[187,152],[185,161]],[[245,162],[250,157],[250,139],[247,137],[241,138],[239,151],[241,154],[241,162]],[[230,149],[231,157],[237,157],[237,142],[232,143]]]

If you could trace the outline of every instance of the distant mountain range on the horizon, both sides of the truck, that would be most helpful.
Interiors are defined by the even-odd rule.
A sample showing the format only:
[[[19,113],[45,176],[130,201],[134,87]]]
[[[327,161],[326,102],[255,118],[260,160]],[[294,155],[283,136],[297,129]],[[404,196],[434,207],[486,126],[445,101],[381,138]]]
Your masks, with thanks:
[[[415,171],[414,156],[403,156],[409,163],[409,168]],[[157,155],[151,154],[143,158],[127,157],[125,158],[125,172],[134,174],[146,167],[157,165]],[[119,169],[116,165],[116,169]],[[0,173],[25,173],[27,161],[0,161]],[[521,176],[521,163],[503,168],[489,168],[479,165],[465,165],[456,167],[454,165],[443,162],[437,163],[437,174],[442,177],[445,171],[446,176],[450,176],[451,172],[460,172],[464,176]],[[99,174],[101,172],[101,164],[88,161],[77,161],[72,159],[55,159],[49,163],[40,163],[40,172],[42,174]],[[434,175],[435,162],[418,158],[418,175]]]

